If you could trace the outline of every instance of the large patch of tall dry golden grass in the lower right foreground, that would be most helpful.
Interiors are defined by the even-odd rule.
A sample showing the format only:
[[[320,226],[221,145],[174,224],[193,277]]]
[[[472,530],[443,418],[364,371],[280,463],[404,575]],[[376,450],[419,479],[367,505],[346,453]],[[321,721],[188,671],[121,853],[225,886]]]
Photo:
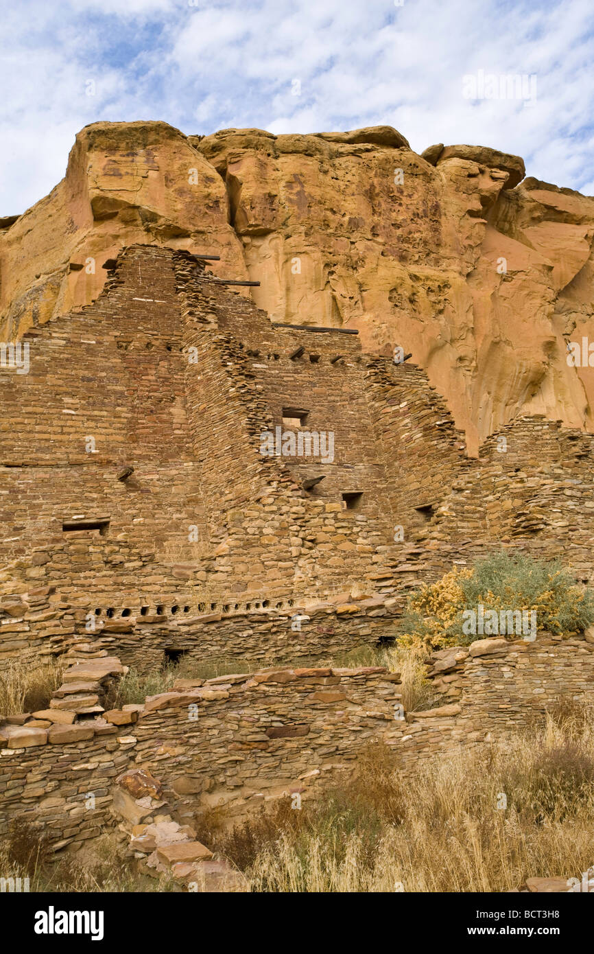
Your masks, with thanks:
[[[506,807],[500,808],[502,795]],[[507,891],[594,861],[594,718],[571,707],[505,743],[395,771],[385,746],[300,811],[201,832],[252,891]]]

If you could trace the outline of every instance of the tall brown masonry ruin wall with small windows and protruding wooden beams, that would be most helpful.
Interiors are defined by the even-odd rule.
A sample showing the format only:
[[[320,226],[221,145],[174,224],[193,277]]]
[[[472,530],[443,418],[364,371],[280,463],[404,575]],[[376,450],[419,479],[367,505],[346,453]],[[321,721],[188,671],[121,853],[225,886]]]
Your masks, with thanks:
[[[0,370],[0,594],[10,606],[46,588],[48,601],[37,617],[0,611],[0,652],[116,633],[125,661],[148,668],[170,648],[292,658],[391,635],[373,599],[387,592],[396,513],[416,513],[423,447],[434,495],[461,453],[421,372],[372,360],[370,385],[357,334],[275,325],[199,259],[151,246],[128,249],[97,301],[25,343],[30,373]],[[302,405],[300,424],[283,422]],[[436,417],[445,430],[430,442]],[[326,453],[263,455],[277,427],[321,432]],[[349,628],[335,610],[352,599],[348,612],[376,615]],[[317,604],[296,645],[291,615]]]

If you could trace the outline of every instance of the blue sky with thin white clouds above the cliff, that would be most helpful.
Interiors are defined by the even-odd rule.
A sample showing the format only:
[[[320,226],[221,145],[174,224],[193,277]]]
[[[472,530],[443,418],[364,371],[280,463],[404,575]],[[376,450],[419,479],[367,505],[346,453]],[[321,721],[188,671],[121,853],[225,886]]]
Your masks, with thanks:
[[[0,90],[0,217],[47,195],[99,120],[389,125],[418,153],[491,146],[594,195],[593,0],[4,0]]]

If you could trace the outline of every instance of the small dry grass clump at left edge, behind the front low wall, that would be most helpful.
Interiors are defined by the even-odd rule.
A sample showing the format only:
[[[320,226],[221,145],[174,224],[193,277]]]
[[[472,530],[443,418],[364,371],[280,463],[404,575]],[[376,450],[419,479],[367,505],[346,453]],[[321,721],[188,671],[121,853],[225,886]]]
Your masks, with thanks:
[[[0,714],[18,716],[47,709],[63,672],[59,660],[48,656],[5,660],[0,671]]]

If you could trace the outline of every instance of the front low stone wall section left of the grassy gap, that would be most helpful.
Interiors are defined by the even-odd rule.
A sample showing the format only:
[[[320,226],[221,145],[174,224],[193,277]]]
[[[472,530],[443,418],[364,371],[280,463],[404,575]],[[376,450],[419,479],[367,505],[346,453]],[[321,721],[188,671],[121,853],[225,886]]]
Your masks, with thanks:
[[[52,729],[5,724],[0,833],[19,816],[41,822],[56,847],[93,838],[114,824],[113,779],[138,766],[161,779],[178,817],[228,802],[238,814],[250,811],[349,764],[366,742],[389,740],[398,678],[371,668],[180,680],[140,713],[131,706],[65,726],[73,738],[64,742],[53,741],[60,734]]]

